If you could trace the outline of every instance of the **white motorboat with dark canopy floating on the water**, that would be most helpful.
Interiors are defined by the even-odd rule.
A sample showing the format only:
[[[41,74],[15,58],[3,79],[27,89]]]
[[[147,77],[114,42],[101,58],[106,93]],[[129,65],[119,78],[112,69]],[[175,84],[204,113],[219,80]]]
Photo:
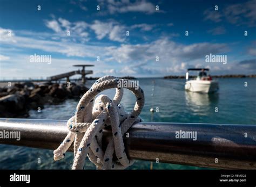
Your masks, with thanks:
[[[199,71],[199,74],[196,79],[189,79],[189,71]],[[219,90],[219,83],[216,80],[212,80],[212,77],[207,75],[206,71],[209,71],[208,68],[190,68],[187,69],[186,73],[186,84],[185,90],[192,92],[215,92]]]

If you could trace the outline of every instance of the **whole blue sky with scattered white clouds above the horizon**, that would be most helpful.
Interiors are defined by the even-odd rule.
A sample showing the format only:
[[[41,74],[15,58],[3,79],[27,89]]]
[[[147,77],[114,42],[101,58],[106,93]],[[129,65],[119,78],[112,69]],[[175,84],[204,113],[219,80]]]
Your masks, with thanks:
[[[0,80],[45,78],[73,64],[94,64],[93,77],[201,67],[255,74],[255,27],[256,0],[0,0]],[[51,55],[51,63],[31,62],[34,54]],[[227,63],[206,62],[210,54]]]

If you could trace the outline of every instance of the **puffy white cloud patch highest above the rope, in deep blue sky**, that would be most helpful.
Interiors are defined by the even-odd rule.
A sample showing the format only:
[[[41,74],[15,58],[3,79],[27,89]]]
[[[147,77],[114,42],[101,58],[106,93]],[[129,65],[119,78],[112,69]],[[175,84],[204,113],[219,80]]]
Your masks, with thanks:
[[[154,25],[150,24],[135,24],[131,27],[119,24],[117,21],[99,21],[95,20],[91,24],[85,21],[76,21],[71,23],[69,20],[64,18],[55,19],[53,16],[52,20],[45,20],[45,25],[51,28],[58,35],[53,35],[53,40],[59,40],[59,38],[67,40],[67,31],[70,31],[72,38],[77,40],[77,37],[82,37],[78,41],[85,43],[89,41],[89,29],[95,32],[96,38],[102,40],[103,38],[108,38],[111,41],[124,42],[126,39],[126,30],[139,28],[141,31],[151,31]]]

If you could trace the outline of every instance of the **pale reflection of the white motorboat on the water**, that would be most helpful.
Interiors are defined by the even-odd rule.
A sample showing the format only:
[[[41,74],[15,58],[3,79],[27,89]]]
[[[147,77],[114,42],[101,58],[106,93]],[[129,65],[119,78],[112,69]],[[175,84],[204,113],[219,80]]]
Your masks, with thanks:
[[[218,93],[198,93],[185,91],[186,105],[194,114],[207,116],[218,104]]]

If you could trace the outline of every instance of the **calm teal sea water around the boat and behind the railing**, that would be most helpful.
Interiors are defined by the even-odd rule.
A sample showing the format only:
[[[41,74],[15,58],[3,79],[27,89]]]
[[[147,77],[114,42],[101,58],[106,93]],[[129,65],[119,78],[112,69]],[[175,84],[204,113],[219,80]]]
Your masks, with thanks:
[[[155,84],[153,86],[153,80]],[[248,87],[244,86],[248,83]],[[92,85],[87,82],[88,87]],[[161,78],[141,78],[139,85],[145,92],[145,106],[140,115],[144,121],[216,123],[216,124],[256,124],[256,78],[219,79],[220,90],[213,94],[184,91],[184,80],[164,80]],[[113,97],[114,90],[104,94]],[[126,111],[131,111],[135,97],[125,90],[122,100]],[[30,111],[30,118],[69,119],[78,100],[70,99],[59,105],[45,105],[41,112]],[[158,107],[153,119],[151,107]],[[218,112],[215,112],[218,107]],[[0,145],[0,169],[70,169],[73,154],[68,153],[61,161],[53,161],[52,150],[33,149]],[[38,163],[41,159],[41,163]],[[136,161],[129,169],[149,169],[150,162]],[[176,164],[154,163],[154,169],[200,169]],[[88,160],[85,169],[95,169]]]

